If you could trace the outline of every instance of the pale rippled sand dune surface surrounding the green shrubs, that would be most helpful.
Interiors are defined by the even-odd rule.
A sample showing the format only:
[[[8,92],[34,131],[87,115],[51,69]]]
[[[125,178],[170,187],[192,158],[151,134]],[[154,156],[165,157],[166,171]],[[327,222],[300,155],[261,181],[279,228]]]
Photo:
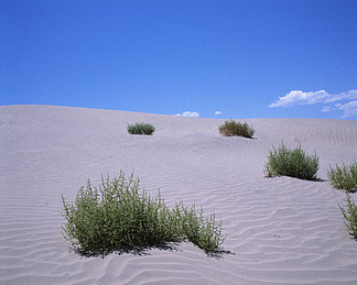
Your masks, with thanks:
[[[1,284],[357,284],[357,242],[328,182],[266,179],[268,149],[301,143],[328,164],[357,158],[357,121],[250,119],[255,140],[223,138],[224,120],[50,106],[0,107]],[[156,125],[129,135],[128,123]],[[82,257],[62,237],[63,194],[120,169],[172,206],[215,210],[235,254],[191,243],[147,255]],[[357,199],[357,196],[353,196]]]

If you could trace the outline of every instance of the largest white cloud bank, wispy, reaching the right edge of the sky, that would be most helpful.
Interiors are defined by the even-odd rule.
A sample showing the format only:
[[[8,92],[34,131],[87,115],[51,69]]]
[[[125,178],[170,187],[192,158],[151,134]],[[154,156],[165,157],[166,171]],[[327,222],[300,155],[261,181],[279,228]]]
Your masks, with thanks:
[[[314,105],[314,103],[332,103],[338,101],[348,101],[345,103],[336,103],[338,110],[344,111],[343,117],[353,117],[357,114],[357,90],[348,90],[340,94],[328,94],[325,90],[304,92],[302,90],[292,90],[283,97],[269,105],[269,107],[290,107],[294,105]],[[336,109],[336,108],[334,108]],[[332,111],[331,106],[322,108],[322,112]]]

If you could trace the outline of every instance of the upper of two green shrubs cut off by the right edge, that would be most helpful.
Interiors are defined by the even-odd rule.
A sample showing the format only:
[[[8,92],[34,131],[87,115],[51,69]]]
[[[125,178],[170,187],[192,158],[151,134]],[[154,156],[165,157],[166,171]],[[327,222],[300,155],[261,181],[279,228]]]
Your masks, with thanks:
[[[343,163],[342,167],[336,164],[336,169],[329,165],[327,171],[329,183],[337,189],[357,191],[357,161],[348,167]]]

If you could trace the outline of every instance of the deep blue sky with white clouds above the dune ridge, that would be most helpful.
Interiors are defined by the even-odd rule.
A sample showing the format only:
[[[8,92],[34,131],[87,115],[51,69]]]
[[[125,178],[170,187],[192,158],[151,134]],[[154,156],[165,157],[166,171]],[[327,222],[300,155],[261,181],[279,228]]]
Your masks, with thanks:
[[[357,120],[357,1],[0,0],[0,105]]]

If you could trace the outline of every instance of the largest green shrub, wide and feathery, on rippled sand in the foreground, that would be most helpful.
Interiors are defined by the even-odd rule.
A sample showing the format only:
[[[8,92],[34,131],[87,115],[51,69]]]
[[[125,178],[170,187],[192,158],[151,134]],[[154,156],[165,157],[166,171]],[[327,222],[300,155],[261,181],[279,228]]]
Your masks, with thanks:
[[[74,202],[64,197],[64,237],[84,254],[130,251],[167,242],[188,240],[206,252],[217,252],[223,243],[221,222],[215,215],[197,215],[180,201],[169,209],[159,194],[151,197],[139,191],[139,179],[120,172],[113,179],[101,178],[99,188],[88,180]]]

